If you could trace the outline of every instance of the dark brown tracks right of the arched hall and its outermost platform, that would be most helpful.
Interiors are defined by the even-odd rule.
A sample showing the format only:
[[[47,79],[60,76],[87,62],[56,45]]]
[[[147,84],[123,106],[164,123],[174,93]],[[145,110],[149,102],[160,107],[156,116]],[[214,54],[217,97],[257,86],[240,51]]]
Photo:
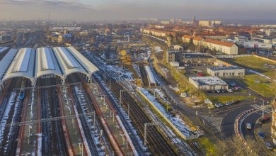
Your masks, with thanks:
[[[99,74],[103,79],[103,73]],[[106,77],[105,75],[105,79],[108,81],[110,79],[113,82],[110,84],[111,90],[117,99],[119,99],[120,90],[124,90],[124,88],[122,88],[120,84],[117,84],[115,79],[111,77]],[[142,111],[142,108],[139,107],[136,101],[134,101],[134,99],[132,99],[130,94],[127,92],[122,92],[122,104],[125,106],[125,108],[130,106],[130,118],[132,121],[134,121],[134,124],[137,126],[139,133],[144,137],[144,123],[151,123],[151,120],[147,118],[144,111]],[[161,136],[161,134],[154,126],[149,126],[147,128],[147,145],[154,155],[176,155],[171,146],[166,143],[166,140]]]

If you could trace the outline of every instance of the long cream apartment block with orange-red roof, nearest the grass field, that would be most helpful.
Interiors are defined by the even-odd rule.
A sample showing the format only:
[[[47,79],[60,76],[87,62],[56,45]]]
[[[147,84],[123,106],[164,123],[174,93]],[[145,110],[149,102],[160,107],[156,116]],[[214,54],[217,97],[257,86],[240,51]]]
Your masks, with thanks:
[[[205,39],[203,46],[210,50],[217,50],[228,55],[238,54],[238,47],[234,43],[228,43],[220,40]]]

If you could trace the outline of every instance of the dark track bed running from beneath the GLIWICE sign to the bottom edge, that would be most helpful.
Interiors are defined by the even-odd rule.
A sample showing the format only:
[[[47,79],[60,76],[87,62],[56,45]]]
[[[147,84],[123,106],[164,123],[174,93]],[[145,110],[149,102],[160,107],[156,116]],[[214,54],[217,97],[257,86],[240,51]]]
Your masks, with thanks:
[[[40,86],[47,82],[42,80]],[[41,118],[54,118],[61,116],[59,112],[59,99],[57,88],[49,87],[41,91]],[[62,130],[62,121],[42,122],[42,155],[69,155],[67,142]]]

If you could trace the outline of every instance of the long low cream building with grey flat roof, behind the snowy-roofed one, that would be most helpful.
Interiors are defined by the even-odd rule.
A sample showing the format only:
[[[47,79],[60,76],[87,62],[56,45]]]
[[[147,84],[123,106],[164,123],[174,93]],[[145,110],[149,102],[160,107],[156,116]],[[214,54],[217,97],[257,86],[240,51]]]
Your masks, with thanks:
[[[213,77],[242,77],[246,70],[238,66],[208,67],[207,73]]]

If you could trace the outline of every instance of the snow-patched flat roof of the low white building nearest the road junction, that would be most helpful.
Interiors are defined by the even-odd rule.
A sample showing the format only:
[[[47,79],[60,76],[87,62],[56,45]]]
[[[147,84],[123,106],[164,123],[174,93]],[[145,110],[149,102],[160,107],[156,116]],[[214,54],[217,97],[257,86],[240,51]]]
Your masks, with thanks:
[[[228,85],[219,77],[190,77],[198,85]]]

